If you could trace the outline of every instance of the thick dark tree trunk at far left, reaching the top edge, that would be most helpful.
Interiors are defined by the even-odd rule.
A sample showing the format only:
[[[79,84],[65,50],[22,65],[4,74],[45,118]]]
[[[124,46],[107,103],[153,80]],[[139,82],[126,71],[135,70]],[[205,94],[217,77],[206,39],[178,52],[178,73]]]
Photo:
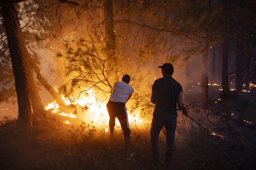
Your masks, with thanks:
[[[28,82],[25,76],[22,49],[20,48],[20,27],[18,26],[14,6],[10,0],[1,0],[1,12],[4,18],[4,27],[8,47],[12,60],[12,69],[17,92],[19,118],[17,128],[20,133],[30,135],[32,132],[31,104],[28,95]]]

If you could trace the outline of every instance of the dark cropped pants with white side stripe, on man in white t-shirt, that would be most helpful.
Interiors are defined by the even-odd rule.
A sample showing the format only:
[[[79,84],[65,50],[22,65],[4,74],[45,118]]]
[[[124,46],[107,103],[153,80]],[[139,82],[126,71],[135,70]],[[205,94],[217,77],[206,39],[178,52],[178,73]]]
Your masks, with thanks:
[[[116,125],[116,118],[121,124],[124,136],[130,136],[131,130],[129,128],[127,108],[123,103],[108,102],[107,104],[108,115],[109,115],[109,129],[114,129]]]

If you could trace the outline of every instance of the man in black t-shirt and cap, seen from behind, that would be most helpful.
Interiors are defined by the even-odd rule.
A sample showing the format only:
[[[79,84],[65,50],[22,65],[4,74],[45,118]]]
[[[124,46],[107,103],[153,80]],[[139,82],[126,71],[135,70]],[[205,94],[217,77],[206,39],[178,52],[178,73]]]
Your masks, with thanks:
[[[167,143],[165,166],[171,169],[172,151],[174,149],[174,137],[177,126],[177,103],[184,115],[187,116],[188,111],[182,101],[182,87],[180,83],[172,78],[174,70],[172,64],[165,63],[158,68],[161,68],[163,78],[158,78],[152,86],[151,102],[156,106],[150,129],[151,146],[154,166],[156,169],[160,169],[158,136],[163,127],[165,127]]]

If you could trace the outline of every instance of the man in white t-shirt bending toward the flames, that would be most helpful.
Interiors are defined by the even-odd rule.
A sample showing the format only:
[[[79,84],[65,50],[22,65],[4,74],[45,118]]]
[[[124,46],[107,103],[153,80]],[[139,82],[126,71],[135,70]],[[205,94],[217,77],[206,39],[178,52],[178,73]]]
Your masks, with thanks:
[[[132,93],[134,93],[134,89],[129,85],[130,79],[130,76],[126,74],[123,76],[122,81],[114,84],[113,92],[107,104],[110,135],[113,137],[117,118],[124,134],[126,160],[130,160],[134,156],[131,152],[131,130],[129,128],[127,108],[125,107],[126,102],[131,98]]]

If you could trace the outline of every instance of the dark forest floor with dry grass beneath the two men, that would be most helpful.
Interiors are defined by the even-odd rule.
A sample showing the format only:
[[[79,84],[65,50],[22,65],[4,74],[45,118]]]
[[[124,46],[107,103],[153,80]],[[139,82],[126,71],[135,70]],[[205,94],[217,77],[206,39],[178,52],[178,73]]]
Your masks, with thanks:
[[[180,115],[176,134],[176,151],[172,169],[179,170],[251,170],[256,167],[256,89],[250,93],[214,103],[228,105],[241,122],[237,141],[209,137],[202,131],[190,133],[191,121]],[[192,94],[191,94],[192,95]],[[194,94],[195,95],[195,94]],[[218,96],[216,96],[218,97]],[[234,109],[235,108],[235,109]],[[233,109],[233,110],[232,110]],[[49,123],[48,123],[49,124]],[[194,125],[196,126],[196,125]],[[34,122],[32,138],[21,138],[15,131],[16,120],[5,121],[0,127],[0,169],[92,169],[147,170],[153,169],[150,145],[150,123],[131,124],[132,151],[135,157],[124,159],[124,137],[120,127],[114,138],[104,129],[94,129],[88,123],[71,127],[52,121],[50,125]],[[91,129],[91,130],[84,130]],[[236,129],[237,130],[237,129]],[[237,131],[236,131],[237,132]],[[197,133],[197,134],[196,134]],[[159,137],[160,159],[164,161],[165,138]],[[164,169],[164,168],[162,168]]]

